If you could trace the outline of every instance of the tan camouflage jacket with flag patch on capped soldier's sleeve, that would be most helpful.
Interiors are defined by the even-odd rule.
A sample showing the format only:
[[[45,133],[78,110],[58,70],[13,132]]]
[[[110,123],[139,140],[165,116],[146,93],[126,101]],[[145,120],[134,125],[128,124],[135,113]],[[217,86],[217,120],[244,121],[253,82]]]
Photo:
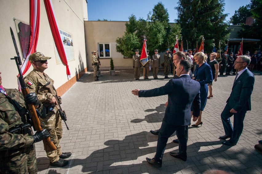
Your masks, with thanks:
[[[49,89],[44,86],[48,82],[51,82],[51,86],[54,91],[56,91],[54,88],[54,80],[46,73],[41,74],[41,72],[34,69],[25,77],[25,83],[29,92],[35,92],[37,98],[43,104],[50,104],[51,99],[54,97],[54,95],[49,92]]]

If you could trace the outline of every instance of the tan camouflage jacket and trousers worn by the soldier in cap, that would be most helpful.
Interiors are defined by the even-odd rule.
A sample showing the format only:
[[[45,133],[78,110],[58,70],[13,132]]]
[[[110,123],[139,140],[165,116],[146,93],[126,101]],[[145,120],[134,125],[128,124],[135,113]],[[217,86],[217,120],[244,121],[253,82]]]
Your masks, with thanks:
[[[44,86],[49,82],[51,83],[53,90],[56,92],[53,85],[54,80],[52,80],[45,73],[42,74],[41,72],[38,72],[36,69],[34,69],[25,77],[25,83],[29,89],[29,92],[35,92],[37,94],[37,98],[40,102],[42,102],[42,104],[44,105],[44,109],[46,110],[46,118],[44,118],[45,116],[42,114],[42,118],[40,119],[41,122],[43,122],[45,125],[43,128],[47,129],[48,132],[51,134],[50,138],[52,139],[54,145],[57,147],[57,149],[54,151],[46,152],[50,162],[54,163],[58,161],[59,156],[62,155],[62,150],[59,142],[62,138],[63,127],[58,110],[56,109],[56,107],[54,107],[53,104],[50,103],[54,95],[52,95],[50,91]]]

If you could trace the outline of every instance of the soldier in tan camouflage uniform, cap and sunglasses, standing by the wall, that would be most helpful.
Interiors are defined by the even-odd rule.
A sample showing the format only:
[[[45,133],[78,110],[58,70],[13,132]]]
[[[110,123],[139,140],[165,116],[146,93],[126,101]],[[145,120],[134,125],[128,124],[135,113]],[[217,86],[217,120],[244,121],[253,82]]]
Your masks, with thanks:
[[[34,69],[25,77],[25,83],[29,91],[37,93],[39,101],[43,103],[44,108],[40,119],[45,125],[44,128],[51,134],[50,138],[57,147],[54,151],[46,152],[50,160],[50,165],[63,167],[68,164],[68,161],[64,159],[69,158],[71,153],[62,153],[61,146],[59,145],[63,132],[62,120],[55,106],[58,103],[54,95],[45,87],[47,83],[50,83],[51,87],[56,92],[54,80],[44,73],[44,70],[48,68],[47,60],[50,58],[51,57],[46,57],[40,52],[31,54],[28,60],[33,65]]]

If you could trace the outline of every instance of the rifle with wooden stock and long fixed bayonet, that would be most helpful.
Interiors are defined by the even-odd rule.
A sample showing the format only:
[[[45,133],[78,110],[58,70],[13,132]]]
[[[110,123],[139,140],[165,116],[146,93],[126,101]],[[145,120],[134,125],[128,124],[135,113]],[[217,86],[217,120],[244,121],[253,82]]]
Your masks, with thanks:
[[[22,61],[21,61],[21,58],[19,56],[19,52],[18,52],[18,48],[17,48],[17,45],[16,45],[16,41],[15,41],[15,38],[14,38],[14,33],[13,33],[13,30],[12,28],[10,27],[10,31],[11,31],[11,36],[12,36],[12,39],[13,39],[13,42],[14,42],[14,48],[15,48],[15,51],[16,51],[16,54],[17,56],[15,56],[14,58],[11,58],[11,60],[15,60],[16,62],[16,65],[17,65],[17,69],[18,69],[18,72],[19,72],[19,76],[18,76],[18,80],[20,82],[20,85],[21,85],[21,90],[22,90],[22,94],[23,96],[29,94],[29,90],[28,88],[26,87],[26,83],[24,81],[24,77],[23,77],[23,74],[22,74],[22,71],[21,71],[21,67],[20,65],[22,65]],[[26,107],[29,109],[29,122],[31,123],[31,125],[33,126],[33,129],[34,131],[41,131],[43,130],[43,123],[40,122],[40,118],[39,116],[41,115],[40,112],[35,108],[35,106],[33,104],[26,104]],[[50,139],[50,137],[46,138],[43,140],[43,143],[44,143],[44,147],[46,149],[46,152],[50,152],[50,151],[53,151],[53,150],[56,150],[56,146],[54,145],[53,141]]]

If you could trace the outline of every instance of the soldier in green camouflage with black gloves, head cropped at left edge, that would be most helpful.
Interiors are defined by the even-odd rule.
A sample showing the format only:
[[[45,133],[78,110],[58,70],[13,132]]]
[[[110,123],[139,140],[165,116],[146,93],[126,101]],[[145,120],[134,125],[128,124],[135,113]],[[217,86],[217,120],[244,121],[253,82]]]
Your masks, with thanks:
[[[26,95],[25,101],[42,110],[35,93]],[[25,115],[25,101],[18,90],[3,88],[0,76],[0,173],[36,174],[34,143],[50,137],[46,129],[33,135]]]

